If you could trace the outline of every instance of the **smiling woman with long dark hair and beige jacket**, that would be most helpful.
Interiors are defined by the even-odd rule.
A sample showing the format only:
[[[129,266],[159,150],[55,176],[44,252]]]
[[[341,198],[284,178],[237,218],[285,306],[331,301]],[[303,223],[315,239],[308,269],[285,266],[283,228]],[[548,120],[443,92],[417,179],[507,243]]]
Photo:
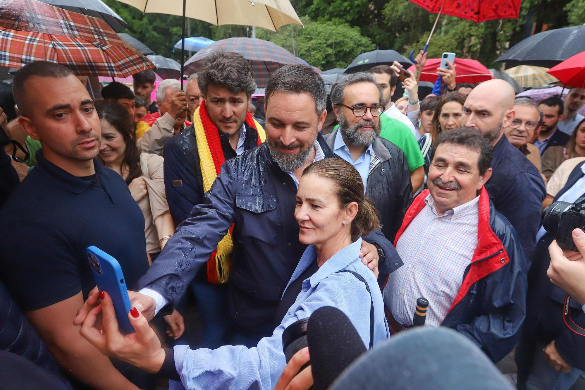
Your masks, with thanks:
[[[126,180],[130,194],[144,214],[146,250],[154,260],[174,233],[164,192],[163,158],[138,152],[134,124],[122,105],[102,100],[95,103],[95,109],[102,126],[99,159]]]

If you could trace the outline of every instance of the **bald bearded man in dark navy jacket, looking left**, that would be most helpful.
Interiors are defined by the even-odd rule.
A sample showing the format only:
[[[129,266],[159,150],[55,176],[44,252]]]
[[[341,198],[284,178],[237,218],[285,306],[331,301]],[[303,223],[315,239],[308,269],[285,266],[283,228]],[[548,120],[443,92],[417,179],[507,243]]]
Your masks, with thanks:
[[[512,85],[504,80],[489,80],[477,85],[467,96],[462,125],[479,129],[494,145],[493,173],[486,190],[495,209],[516,230],[528,262],[527,272],[541,224],[546,187],[534,164],[503,136],[514,114]]]

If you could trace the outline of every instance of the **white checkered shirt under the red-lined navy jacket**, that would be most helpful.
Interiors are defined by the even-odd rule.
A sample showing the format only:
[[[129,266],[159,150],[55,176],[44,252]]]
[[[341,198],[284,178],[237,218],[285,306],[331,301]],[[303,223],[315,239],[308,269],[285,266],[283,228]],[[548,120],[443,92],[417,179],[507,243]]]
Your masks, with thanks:
[[[412,325],[417,298],[429,300],[425,325],[440,326],[463,282],[477,247],[479,196],[439,216],[431,195],[400,236],[404,265],[390,274],[384,302],[394,319]]]

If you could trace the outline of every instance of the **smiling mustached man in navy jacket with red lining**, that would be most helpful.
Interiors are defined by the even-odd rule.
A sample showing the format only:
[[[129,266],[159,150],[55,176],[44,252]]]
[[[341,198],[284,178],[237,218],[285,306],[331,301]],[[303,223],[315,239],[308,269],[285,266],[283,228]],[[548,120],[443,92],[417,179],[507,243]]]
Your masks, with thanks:
[[[383,295],[392,333],[412,326],[424,297],[425,326],[455,329],[498,362],[518,340],[528,286],[518,237],[484,186],[493,153],[477,129],[438,136],[428,189],[408,208],[394,244],[404,266]]]

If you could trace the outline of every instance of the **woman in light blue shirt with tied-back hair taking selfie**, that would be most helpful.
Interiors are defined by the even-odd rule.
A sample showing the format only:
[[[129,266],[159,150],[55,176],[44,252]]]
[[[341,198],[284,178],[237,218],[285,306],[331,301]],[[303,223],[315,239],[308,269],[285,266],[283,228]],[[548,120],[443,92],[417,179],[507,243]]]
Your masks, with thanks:
[[[106,293],[101,305],[87,314],[81,334],[102,353],[180,380],[187,389],[274,388],[286,365],[284,329],[309,317],[319,307],[342,310],[365,345],[375,345],[387,338],[380,288],[374,273],[359,258],[360,237],[379,225],[376,208],[364,197],[357,170],[341,159],[324,159],[309,165],[298,186],[295,218],[300,227],[299,240],[309,247],[284,291],[281,303],[285,307],[278,310],[284,313],[280,325],[271,337],[262,338],[257,347],[225,345],[216,350],[191,350],[187,345],[179,345],[174,350],[164,350],[136,308],[128,314],[136,333],[123,336],[117,321],[111,320],[115,313]],[[374,308],[373,319],[370,303]],[[94,327],[101,312],[105,319],[104,334]]]

